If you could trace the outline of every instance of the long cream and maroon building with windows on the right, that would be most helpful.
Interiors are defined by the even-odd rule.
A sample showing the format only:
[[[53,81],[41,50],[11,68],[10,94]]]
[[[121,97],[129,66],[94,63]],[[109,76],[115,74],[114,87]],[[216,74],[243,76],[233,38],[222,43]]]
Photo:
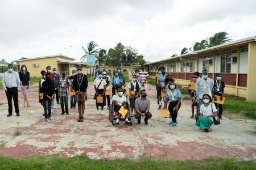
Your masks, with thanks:
[[[151,78],[162,66],[176,83],[183,85],[188,85],[195,71],[201,73],[207,69],[213,79],[216,73],[221,73],[226,85],[225,94],[256,101],[255,36],[151,62],[147,65]]]

